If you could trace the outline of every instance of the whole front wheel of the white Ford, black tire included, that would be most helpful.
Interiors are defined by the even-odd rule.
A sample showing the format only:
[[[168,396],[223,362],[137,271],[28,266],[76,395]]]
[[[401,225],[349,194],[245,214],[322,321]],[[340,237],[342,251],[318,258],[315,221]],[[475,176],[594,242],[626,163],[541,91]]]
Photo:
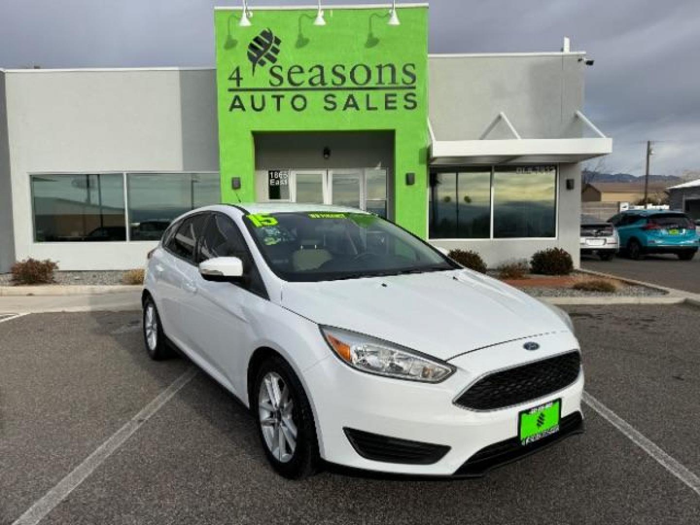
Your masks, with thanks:
[[[311,405],[292,367],[280,357],[260,366],[251,411],[267,461],[279,475],[304,479],[316,472],[318,442]]]

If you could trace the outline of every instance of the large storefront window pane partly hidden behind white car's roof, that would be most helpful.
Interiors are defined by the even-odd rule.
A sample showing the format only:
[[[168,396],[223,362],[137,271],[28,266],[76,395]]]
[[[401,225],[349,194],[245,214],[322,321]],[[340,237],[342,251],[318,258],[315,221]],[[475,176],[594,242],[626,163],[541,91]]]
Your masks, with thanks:
[[[132,241],[157,241],[170,222],[186,211],[221,202],[216,173],[127,174]]]

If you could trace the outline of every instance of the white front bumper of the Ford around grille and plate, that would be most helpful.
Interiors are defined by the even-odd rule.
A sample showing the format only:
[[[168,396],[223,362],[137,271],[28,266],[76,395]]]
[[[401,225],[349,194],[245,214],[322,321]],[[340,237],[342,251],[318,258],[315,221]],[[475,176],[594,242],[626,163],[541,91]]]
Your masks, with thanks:
[[[554,337],[556,339],[556,337]],[[570,336],[568,339],[575,338]],[[538,339],[539,341],[540,339]],[[318,444],[321,456],[330,463],[362,470],[391,472],[410,475],[481,475],[500,463],[513,461],[559,440],[565,435],[580,431],[580,425],[570,432],[559,433],[533,447],[508,447],[517,440],[519,413],[549,400],[561,399],[561,421],[580,416],[581,394],[584,377],[563,390],[531,400],[520,405],[490,411],[475,411],[454,405],[455,398],[484,371],[518,365],[512,363],[521,358],[523,364],[533,356],[521,348],[514,353],[514,345],[504,344],[465,354],[450,361],[457,372],[440,384],[423,384],[372,376],[353,370],[335,356],[329,356],[304,372],[307,388],[314,404]],[[577,347],[577,346],[576,346]],[[571,346],[565,346],[570,349]],[[480,355],[479,355],[480,354]],[[503,363],[499,365],[498,363]],[[358,454],[348,439],[346,428],[365,433],[411,440],[425,444],[449,447],[449,451],[428,465],[373,461]],[[485,449],[501,445],[498,454]],[[505,449],[503,449],[505,447]],[[493,449],[491,449],[491,452]],[[470,465],[489,455],[487,461]],[[486,456],[484,456],[485,458]],[[482,459],[484,459],[482,458]]]

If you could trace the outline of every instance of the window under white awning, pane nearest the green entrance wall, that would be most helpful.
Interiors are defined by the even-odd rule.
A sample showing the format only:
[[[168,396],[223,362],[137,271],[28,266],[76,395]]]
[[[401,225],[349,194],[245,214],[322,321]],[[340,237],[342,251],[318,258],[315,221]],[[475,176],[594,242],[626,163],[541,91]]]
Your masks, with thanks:
[[[430,237],[488,239],[491,233],[491,169],[430,176]]]

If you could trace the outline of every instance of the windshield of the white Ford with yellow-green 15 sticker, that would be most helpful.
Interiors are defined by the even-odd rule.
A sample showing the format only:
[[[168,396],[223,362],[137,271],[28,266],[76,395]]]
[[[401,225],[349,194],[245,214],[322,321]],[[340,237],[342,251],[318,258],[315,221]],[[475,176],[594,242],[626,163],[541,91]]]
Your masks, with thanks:
[[[267,264],[286,281],[332,281],[458,268],[374,215],[310,211],[244,218]]]

